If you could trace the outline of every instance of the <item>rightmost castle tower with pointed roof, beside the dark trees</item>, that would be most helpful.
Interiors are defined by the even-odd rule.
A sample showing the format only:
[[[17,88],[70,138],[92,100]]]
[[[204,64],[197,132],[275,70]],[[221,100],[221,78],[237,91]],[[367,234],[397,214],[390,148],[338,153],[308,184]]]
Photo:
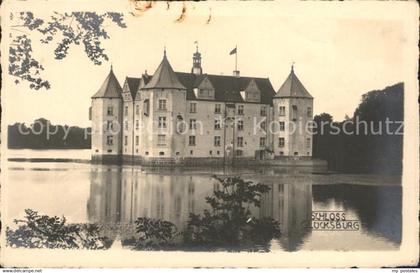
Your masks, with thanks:
[[[281,156],[312,156],[312,134],[307,129],[313,120],[313,97],[295,74],[289,76],[273,98],[274,154]]]

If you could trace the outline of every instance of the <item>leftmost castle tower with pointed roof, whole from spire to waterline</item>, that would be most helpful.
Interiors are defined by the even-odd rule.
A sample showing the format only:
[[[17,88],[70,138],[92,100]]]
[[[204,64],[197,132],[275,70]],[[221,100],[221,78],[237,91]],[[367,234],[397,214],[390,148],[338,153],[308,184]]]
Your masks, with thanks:
[[[92,160],[118,162],[121,159],[122,88],[114,71],[92,96]]]

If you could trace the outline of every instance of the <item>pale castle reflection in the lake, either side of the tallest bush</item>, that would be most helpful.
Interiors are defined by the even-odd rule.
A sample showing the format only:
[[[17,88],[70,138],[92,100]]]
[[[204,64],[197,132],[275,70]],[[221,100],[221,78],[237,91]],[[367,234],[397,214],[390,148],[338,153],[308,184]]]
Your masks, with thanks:
[[[208,174],[146,173],[115,166],[92,168],[89,221],[119,227],[122,239],[133,235],[132,224],[138,217],[167,220],[182,230],[190,213],[210,208],[205,198],[217,187]],[[282,232],[280,245],[296,250],[309,232],[304,223],[311,218],[312,185],[285,184],[281,179],[265,184],[271,191],[262,197],[261,207],[250,210],[256,218],[276,219]]]

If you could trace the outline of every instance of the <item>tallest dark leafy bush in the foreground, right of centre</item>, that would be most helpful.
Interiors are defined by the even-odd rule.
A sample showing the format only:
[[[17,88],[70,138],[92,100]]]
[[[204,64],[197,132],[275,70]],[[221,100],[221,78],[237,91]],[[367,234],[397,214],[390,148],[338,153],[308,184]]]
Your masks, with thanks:
[[[194,246],[243,247],[267,244],[280,236],[279,223],[269,217],[252,217],[250,206],[260,207],[261,196],[270,190],[264,184],[240,177],[214,177],[218,188],[206,202],[211,210],[190,214],[184,232],[186,244]]]

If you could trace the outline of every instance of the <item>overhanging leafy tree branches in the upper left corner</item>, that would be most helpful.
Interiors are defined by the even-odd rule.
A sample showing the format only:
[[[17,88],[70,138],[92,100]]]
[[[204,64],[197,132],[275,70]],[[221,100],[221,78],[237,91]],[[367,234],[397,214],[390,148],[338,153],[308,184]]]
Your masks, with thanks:
[[[9,74],[16,78],[16,84],[26,81],[35,90],[49,89],[51,85],[41,75],[44,67],[33,56],[34,32],[40,34],[41,43],[57,42],[54,50],[57,60],[65,58],[71,46],[83,45],[87,57],[95,65],[100,65],[108,60],[101,45],[102,40],[110,38],[105,22],[112,22],[121,28],[127,27],[123,14],[116,12],[54,12],[48,21],[37,18],[32,12],[19,12],[11,13],[10,20],[14,24],[10,34]]]

